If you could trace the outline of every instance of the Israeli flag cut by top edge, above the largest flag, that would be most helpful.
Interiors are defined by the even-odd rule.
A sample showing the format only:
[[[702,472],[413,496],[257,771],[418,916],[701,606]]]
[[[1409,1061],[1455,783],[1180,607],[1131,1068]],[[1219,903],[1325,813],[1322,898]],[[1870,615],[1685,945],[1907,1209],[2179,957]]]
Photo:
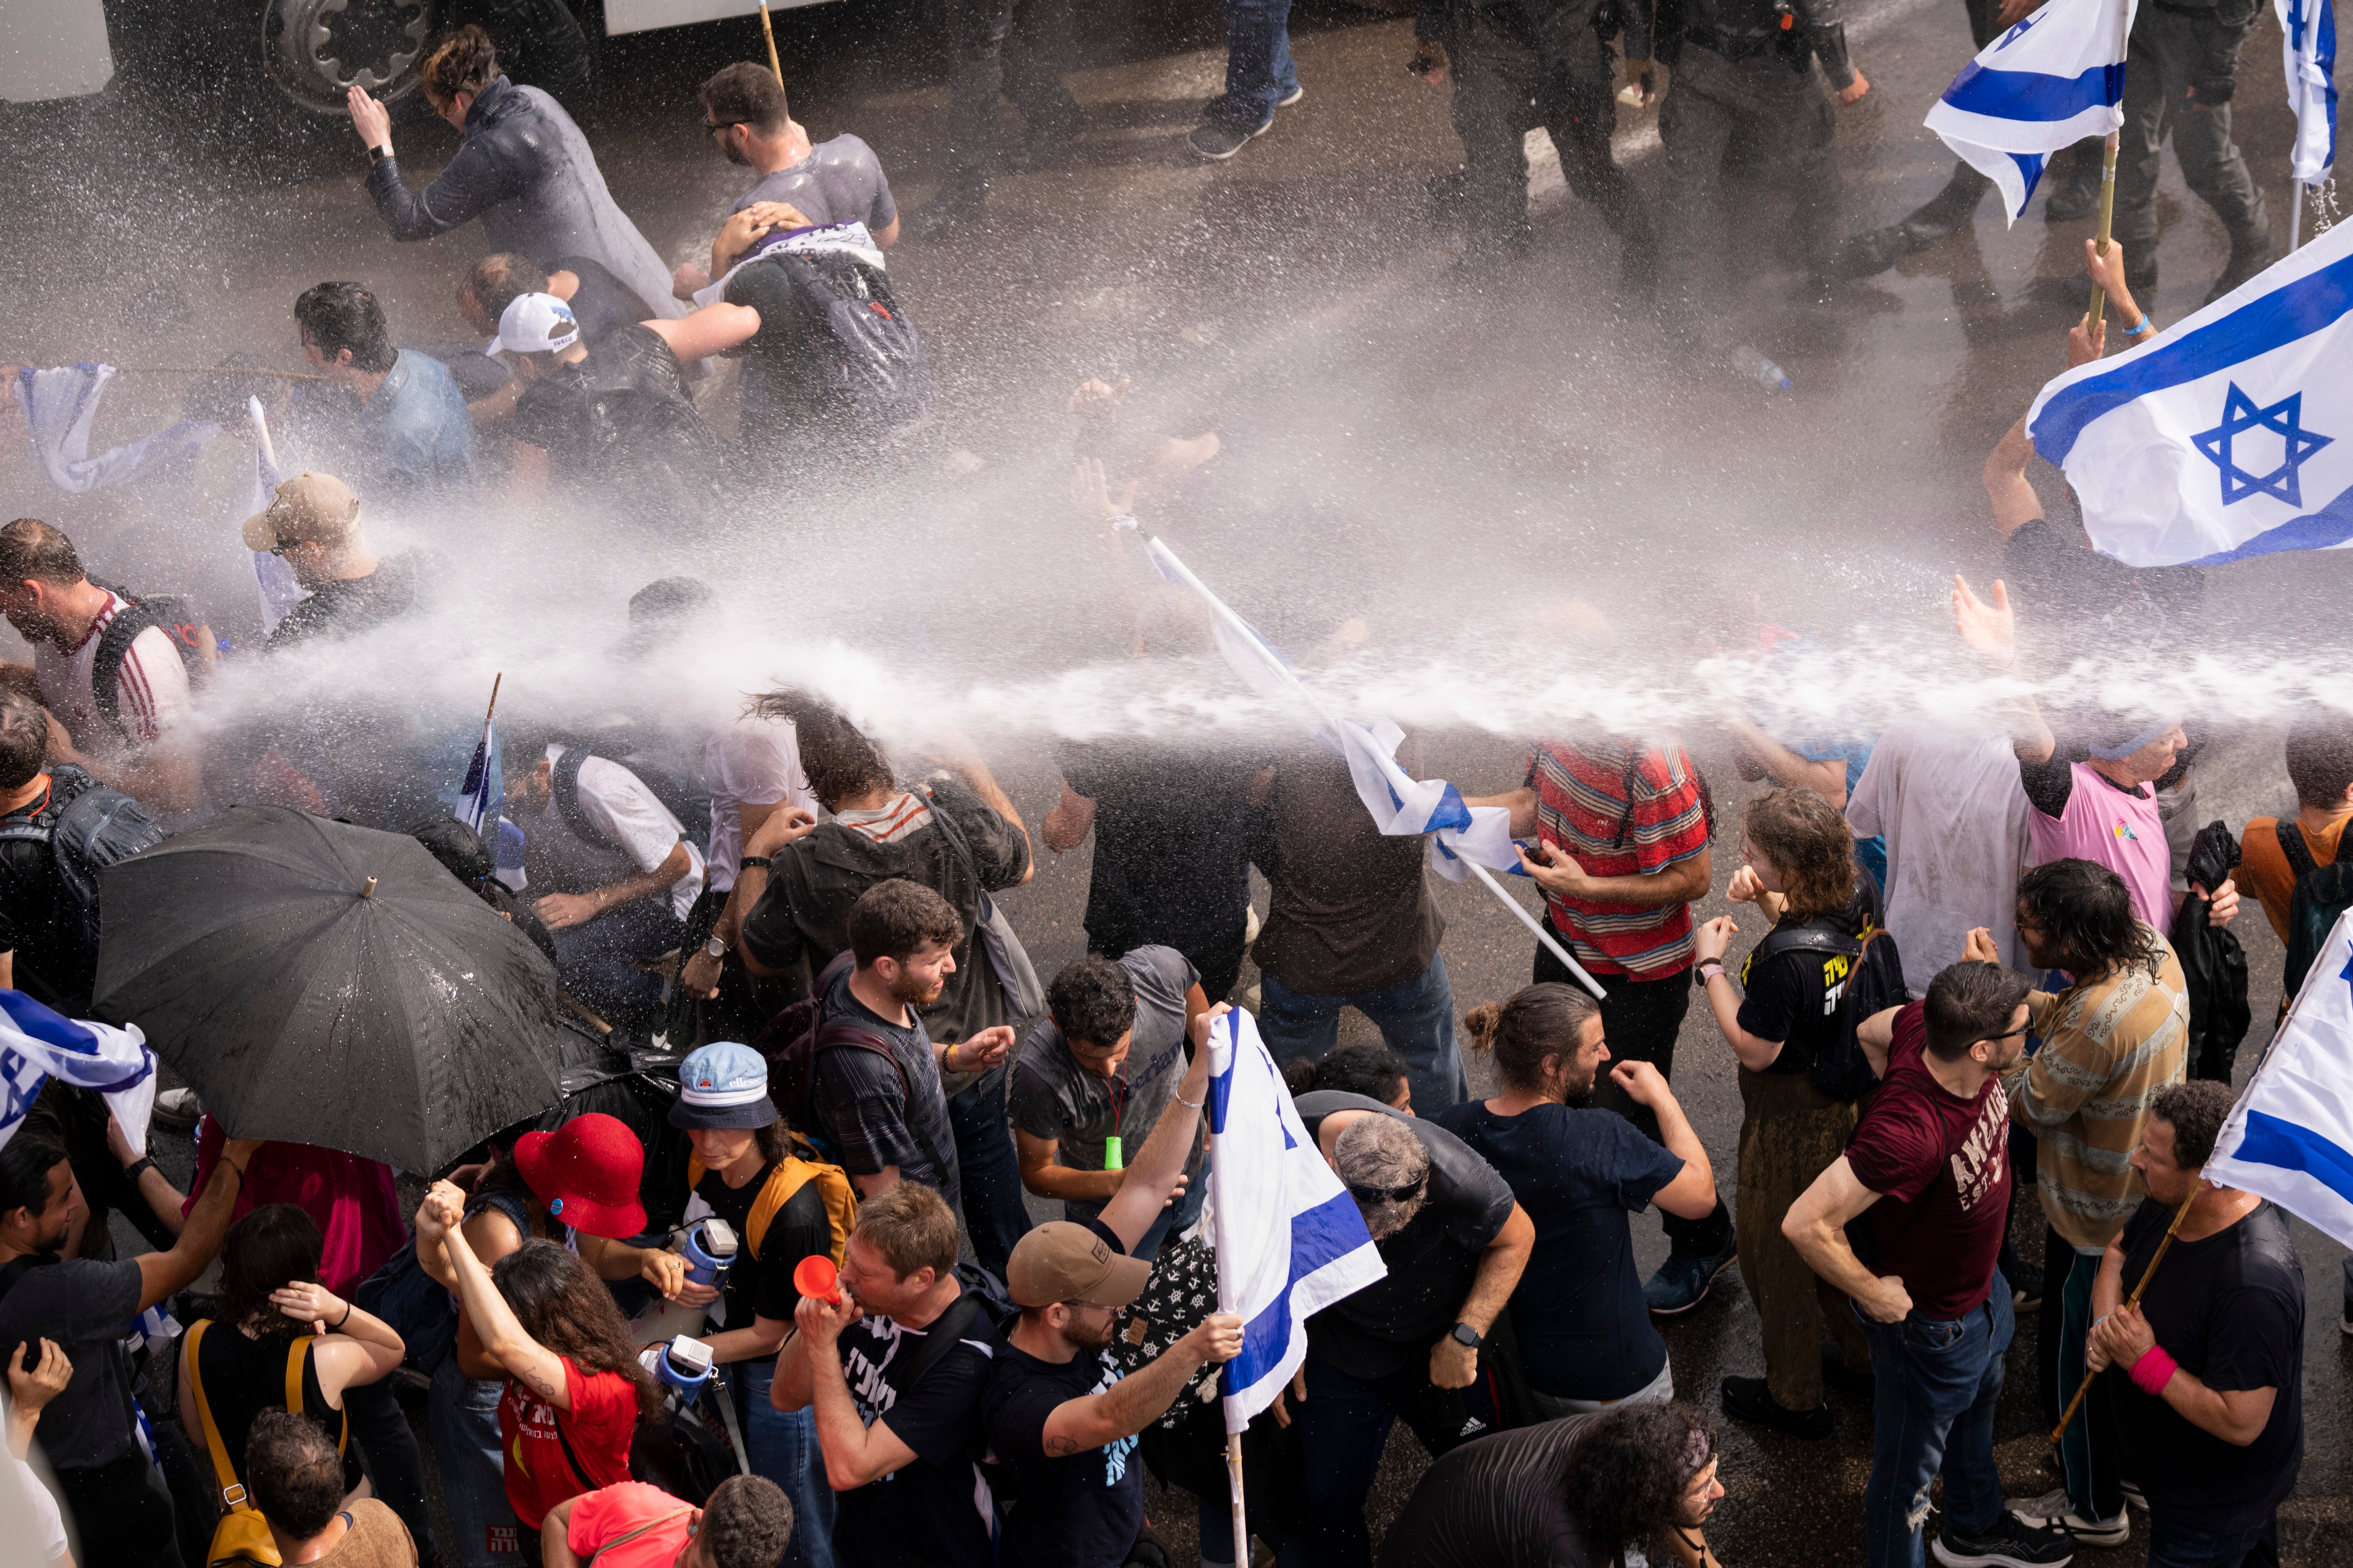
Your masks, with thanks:
[[[2000,186],[2012,223],[2026,212],[2052,153],[2125,125],[2125,40],[2134,5],[2049,0],[1986,45],[1927,110],[1927,127]]]

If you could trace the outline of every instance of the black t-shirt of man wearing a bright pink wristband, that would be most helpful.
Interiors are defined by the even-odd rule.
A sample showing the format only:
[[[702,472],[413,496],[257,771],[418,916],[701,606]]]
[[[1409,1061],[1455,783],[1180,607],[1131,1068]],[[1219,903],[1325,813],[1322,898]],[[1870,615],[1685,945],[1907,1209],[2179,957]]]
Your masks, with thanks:
[[[2125,1295],[2148,1272],[2172,1220],[2155,1199],[2125,1220]],[[2205,1241],[2174,1237],[2141,1312],[2165,1354],[2209,1389],[2278,1389],[2264,1432],[2240,1448],[2113,1373],[2115,1422],[2141,1490],[2193,1530],[2264,1523],[2304,1465],[2304,1262],[2287,1213],[2264,1204]]]

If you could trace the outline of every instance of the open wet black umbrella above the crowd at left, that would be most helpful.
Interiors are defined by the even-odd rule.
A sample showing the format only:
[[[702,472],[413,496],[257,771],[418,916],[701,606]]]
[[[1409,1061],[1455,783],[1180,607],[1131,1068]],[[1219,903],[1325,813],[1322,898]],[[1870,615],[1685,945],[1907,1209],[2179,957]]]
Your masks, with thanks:
[[[558,1103],[553,966],[416,839],[235,806],[99,907],[94,1009],[238,1138],[440,1171]]]

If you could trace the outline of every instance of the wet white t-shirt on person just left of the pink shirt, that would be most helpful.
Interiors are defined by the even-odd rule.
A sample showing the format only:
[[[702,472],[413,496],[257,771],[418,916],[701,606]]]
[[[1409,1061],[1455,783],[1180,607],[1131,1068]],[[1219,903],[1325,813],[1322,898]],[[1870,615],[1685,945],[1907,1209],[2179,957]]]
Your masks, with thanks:
[[[1960,961],[1972,926],[1993,931],[2002,964],[2031,969],[2017,926],[2031,813],[2007,736],[1929,719],[1880,733],[1847,825],[1887,835],[1887,931],[1913,997]]]

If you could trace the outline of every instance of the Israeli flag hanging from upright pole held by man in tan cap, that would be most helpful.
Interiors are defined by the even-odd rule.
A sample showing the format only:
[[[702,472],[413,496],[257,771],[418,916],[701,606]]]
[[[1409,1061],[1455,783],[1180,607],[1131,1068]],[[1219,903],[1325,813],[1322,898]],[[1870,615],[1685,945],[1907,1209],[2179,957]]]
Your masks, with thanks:
[[[1306,1361],[1308,1319],[1388,1279],[1365,1215],[1240,1009],[1209,1025],[1209,1225],[1217,1309],[1242,1319],[1242,1354],[1219,1373],[1233,1434]]]

